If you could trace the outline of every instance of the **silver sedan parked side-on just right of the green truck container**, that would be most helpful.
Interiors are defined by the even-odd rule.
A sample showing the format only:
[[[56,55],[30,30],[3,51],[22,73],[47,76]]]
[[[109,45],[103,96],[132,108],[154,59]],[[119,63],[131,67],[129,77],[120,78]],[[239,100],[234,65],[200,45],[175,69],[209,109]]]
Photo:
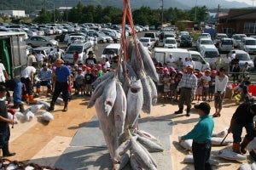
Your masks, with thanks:
[[[40,47],[40,46],[53,47],[53,46],[58,46],[58,42],[46,36],[33,36],[33,37],[29,37],[26,40],[26,45],[29,45],[31,47]]]

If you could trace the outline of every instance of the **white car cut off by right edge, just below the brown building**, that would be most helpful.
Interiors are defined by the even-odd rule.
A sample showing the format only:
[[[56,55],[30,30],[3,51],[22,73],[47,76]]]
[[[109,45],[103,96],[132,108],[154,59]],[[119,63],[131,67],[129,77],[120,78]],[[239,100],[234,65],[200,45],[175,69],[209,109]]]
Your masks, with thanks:
[[[240,49],[248,54],[256,54],[256,39],[253,37],[241,38]]]

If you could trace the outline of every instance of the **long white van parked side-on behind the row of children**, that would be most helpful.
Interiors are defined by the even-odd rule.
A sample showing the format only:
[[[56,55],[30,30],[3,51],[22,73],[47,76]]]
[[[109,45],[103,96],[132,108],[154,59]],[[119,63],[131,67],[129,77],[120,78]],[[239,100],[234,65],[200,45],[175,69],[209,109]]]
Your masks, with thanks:
[[[175,60],[178,60],[180,57],[182,57],[182,61],[185,58],[192,58],[195,61],[195,70],[204,71],[210,68],[209,63],[197,51],[189,51],[183,48],[154,48],[154,58],[162,64],[166,63],[166,59],[168,59],[170,54],[172,54],[172,58]],[[172,66],[177,68],[177,65]]]

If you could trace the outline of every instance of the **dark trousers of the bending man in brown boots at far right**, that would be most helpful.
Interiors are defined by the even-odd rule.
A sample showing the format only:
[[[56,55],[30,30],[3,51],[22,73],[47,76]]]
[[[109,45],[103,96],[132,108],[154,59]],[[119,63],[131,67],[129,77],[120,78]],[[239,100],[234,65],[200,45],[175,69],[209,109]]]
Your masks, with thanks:
[[[247,134],[245,136],[246,139],[248,140],[253,140],[254,139],[254,125],[253,122],[246,123],[246,124],[241,124],[235,122],[232,127],[232,133],[233,133],[233,140],[234,143],[240,143],[241,142],[241,132],[242,132],[242,127],[245,127],[247,130]]]

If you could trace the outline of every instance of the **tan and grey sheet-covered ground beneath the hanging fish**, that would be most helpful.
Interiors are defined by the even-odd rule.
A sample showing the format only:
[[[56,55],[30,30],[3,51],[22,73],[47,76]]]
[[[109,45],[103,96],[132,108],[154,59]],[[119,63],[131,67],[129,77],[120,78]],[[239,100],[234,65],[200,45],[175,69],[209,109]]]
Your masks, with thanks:
[[[49,101],[50,98],[46,98],[43,94],[42,97],[37,100]],[[84,137],[86,134],[83,134],[84,130],[81,129],[86,128],[86,130],[88,130],[94,127],[93,132],[96,132],[95,130],[97,129],[96,123],[93,124],[93,122],[96,122],[96,111],[94,108],[86,108],[88,100],[88,97],[84,98],[82,96],[73,98],[69,102],[67,112],[61,111],[63,106],[56,105],[55,111],[53,111],[55,119],[52,122],[44,122],[38,114],[34,117],[32,122],[20,122],[16,124],[14,128],[11,128],[9,148],[17,154],[16,156],[9,157],[9,159],[12,161],[23,161],[25,163],[35,162],[39,165],[51,167],[62,167],[66,165],[64,163],[67,163],[68,167],[67,165],[66,167],[62,167],[67,170],[109,169],[108,166],[102,166],[106,161],[97,159],[107,156],[104,160],[108,160],[108,150],[106,150],[106,148],[101,149],[101,147],[97,147],[92,151],[88,144],[83,144],[83,138],[86,139],[86,137]],[[210,104],[213,105],[213,102]],[[219,132],[225,127],[229,127],[230,117],[236,110],[236,107],[235,101],[230,99],[224,100],[222,115],[218,118],[214,118],[214,132]],[[177,104],[171,103],[170,101],[158,102],[150,115],[142,113],[140,120],[142,128],[145,128],[149,133],[154,132],[154,135],[158,135],[159,133],[160,136],[164,136],[161,137],[160,140],[164,140],[165,144],[170,144],[169,146],[165,145],[165,151],[162,156],[167,156],[163,156],[165,161],[158,161],[160,165],[166,163],[166,165],[170,165],[172,169],[194,169],[193,164],[183,163],[184,157],[187,154],[191,154],[191,152],[183,150],[177,142],[177,136],[188,133],[189,130],[195,126],[195,123],[198,122],[199,116],[195,110],[191,111],[190,117],[185,116],[185,114],[174,115],[174,111],[177,111]],[[214,109],[212,106],[211,115],[213,113]],[[154,125],[151,124],[152,122],[154,122]],[[150,127],[157,128],[152,130]],[[79,133],[81,134],[79,135]],[[97,135],[99,134],[97,133]],[[89,138],[90,136],[88,136],[87,139]],[[231,134],[227,138],[232,139]],[[253,142],[248,145],[248,148],[255,148],[255,146],[255,141],[253,140]],[[221,149],[231,150],[231,145],[212,147],[212,150]],[[101,156],[96,157],[96,154],[101,154]],[[73,160],[67,161],[63,156],[67,156],[68,158],[72,157]],[[241,161],[226,161],[214,156],[212,156],[212,158],[220,162],[220,164],[217,167],[213,167],[213,169],[238,169],[242,163]],[[81,165],[83,161],[93,161],[93,163],[90,163],[90,166],[87,168],[80,168],[84,166]],[[251,161],[252,159],[247,153],[247,161],[243,162]],[[165,170],[166,168],[162,167],[159,169]]]

